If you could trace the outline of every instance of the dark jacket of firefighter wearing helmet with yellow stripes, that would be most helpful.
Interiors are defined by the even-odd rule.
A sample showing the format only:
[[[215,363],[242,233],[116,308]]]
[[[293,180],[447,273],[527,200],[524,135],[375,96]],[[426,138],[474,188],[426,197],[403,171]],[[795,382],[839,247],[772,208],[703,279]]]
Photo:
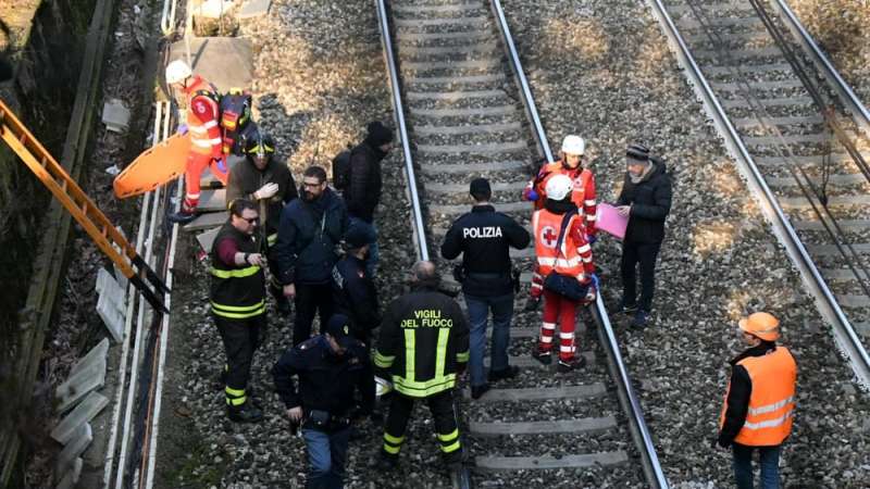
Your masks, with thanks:
[[[272,158],[261,172],[250,158],[246,158],[229,171],[229,179],[226,184],[226,205],[228,208],[236,199],[253,200],[253,192],[260,190],[265,184],[277,184],[278,186],[277,193],[266,203],[266,215],[260,216],[260,222],[265,226],[266,236],[271,236],[278,231],[281,211],[284,205],[299,197],[293,174],[287,165]]]

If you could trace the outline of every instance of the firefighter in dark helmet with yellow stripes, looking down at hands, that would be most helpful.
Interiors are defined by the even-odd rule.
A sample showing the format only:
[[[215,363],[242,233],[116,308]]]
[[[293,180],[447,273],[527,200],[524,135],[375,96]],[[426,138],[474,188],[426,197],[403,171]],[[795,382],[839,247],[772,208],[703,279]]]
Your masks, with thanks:
[[[284,204],[296,199],[299,195],[290,170],[284,163],[275,161],[275,142],[272,137],[256,131],[246,140],[246,159],[229,171],[226,185],[227,206],[236,199],[249,199],[257,202],[260,210],[260,220],[263,225],[260,229],[264,238],[265,253],[269,259],[271,280],[269,291],[275,299],[275,305],[282,316],[290,313],[290,301],[284,296],[284,290],[276,281],[276,262],[272,249],[278,238],[278,224]]]

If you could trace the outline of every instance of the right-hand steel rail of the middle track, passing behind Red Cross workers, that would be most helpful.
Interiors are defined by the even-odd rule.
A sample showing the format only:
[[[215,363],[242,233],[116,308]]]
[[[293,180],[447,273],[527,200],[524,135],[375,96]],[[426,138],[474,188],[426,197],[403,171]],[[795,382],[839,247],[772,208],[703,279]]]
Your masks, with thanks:
[[[522,62],[520,61],[520,54],[513,43],[513,36],[510,33],[510,26],[508,25],[507,17],[505,16],[505,9],[501,7],[500,0],[489,0],[489,3],[496,18],[498,20],[498,29],[501,32],[501,38],[504,39],[505,46],[508,50],[508,61],[510,62],[511,71],[519,82],[521,93],[523,96],[523,104],[526,108],[526,114],[532,123],[535,140],[537,141],[538,148],[542,149],[542,152],[544,153],[543,155],[547,159],[547,161],[555,161],[552,152],[550,151],[549,142],[547,140],[547,134],[544,131],[544,125],[542,124],[540,116],[537,112],[535,99],[532,95],[529,82],[525,78]],[[610,367],[610,374],[617,381],[620,404],[622,405],[623,411],[626,413],[632,438],[634,439],[634,442],[641,452],[644,475],[646,476],[647,482],[651,487],[667,489],[669,487],[668,479],[664,477],[661,464],[659,463],[658,454],[656,453],[656,447],[652,443],[652,436],[649,434],[649,428],[644,419],[644,412],[641,408],[641,401],[637,399],[637,394],[634,392],[634,388],[632,387],[629,369],[625,366],[625,362],[622,360],[622,354],[620,353],[619,349],[619,341],[613,333],[613,327],[610,324],[610,317],[607,314],[607,309],[605,308],[600,293],[596,298],[595,308],[592,308],[592,310],[594,312],[593,316],[599,326],[598,335],[601,346],[605,347],[605,351],[607,352],[607,356],[609,359],[608,363]]]

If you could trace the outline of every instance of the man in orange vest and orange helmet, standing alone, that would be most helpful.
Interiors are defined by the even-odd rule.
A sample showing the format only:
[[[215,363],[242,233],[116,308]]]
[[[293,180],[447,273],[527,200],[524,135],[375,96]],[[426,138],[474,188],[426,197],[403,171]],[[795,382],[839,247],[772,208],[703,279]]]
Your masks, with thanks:
[[[731,380],[719,419],[718,443],[732,447],[738,489],[753,489],[753,452],[759,451],[761,488],[780,487],[780,448],[792,432],[797,365],[776,346],[780,322],[757,312],[738,323],[749,349],[731,361]]]

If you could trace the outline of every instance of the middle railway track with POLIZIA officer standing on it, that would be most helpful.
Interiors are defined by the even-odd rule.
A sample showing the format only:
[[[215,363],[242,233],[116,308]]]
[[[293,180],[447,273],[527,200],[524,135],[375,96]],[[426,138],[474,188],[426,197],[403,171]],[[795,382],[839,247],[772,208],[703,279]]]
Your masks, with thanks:
[[[498,211],[529,226],[521,189],[531,162],[552,155],[500,2],[376,3],[419,255],[437,254],[449,224],[468,212],[475,176],[490,180]],[[530,271],[534,250],[512,258]],[[463,392],[472,484],[549,486],[558,474],[570,487],[667,487],[600,299],[587,318],[579,343],[588,366],[557,375],[530,356],[538,314],[515,311],[509,352],[521,376],[477,401]],[[593,351],[596,334],[601,348]]]

